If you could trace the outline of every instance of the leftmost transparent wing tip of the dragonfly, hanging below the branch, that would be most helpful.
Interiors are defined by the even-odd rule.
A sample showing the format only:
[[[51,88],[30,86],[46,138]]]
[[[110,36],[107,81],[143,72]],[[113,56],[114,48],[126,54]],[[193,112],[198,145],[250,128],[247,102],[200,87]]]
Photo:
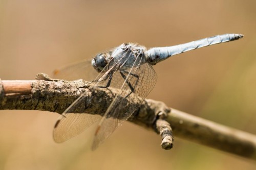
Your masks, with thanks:
[[[54,126],[53,138],[57,143],[64,142],[89,128],[100,117],[87,113],[63,113]]]

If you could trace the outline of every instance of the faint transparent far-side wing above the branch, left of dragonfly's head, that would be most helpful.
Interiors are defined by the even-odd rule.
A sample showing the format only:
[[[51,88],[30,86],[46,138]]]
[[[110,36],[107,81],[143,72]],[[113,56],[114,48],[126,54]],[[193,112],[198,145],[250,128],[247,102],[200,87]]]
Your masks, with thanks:
[[[83,79],[86,81],[94,80],[99,74],[91,64],[92,60],[83,60],[77,63],[70,64],[66,67],[54,70],[55,79],[63,80],[78,80]]]

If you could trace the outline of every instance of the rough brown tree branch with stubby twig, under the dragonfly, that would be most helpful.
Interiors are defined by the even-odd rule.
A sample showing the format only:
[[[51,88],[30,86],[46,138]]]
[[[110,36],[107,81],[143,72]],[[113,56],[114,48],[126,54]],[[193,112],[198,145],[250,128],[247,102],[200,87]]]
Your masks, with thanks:
[[[92,91],[90,84],[82,80],[53,80],[44,74],[37,75],[35,81],[0,80],[0,110],[43,110],[61,114],[86,92],[86,98],[73,112],[103,115],[117,89],[98,88]],[[129,103],[134,104],[133,101]],[[173,129],[176,137],[256,160],[255,135],[168,108],[162,102],[144,100],[129,121],[160,133],[163,138],[161,146],[165,149],[173,146]]]

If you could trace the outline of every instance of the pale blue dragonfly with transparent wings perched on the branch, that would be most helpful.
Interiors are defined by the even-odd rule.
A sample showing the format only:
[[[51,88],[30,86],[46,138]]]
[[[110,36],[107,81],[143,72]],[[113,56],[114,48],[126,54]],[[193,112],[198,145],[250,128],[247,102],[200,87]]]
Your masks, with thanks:
[[[54,140],[58,143],[64,142],[99,122],[92,144],[92,149],[95,150],[118,126],[133,115],[152,91],[157,81],[152,65],[177,54],[242,37],[242,34],[223,34],[174,46],[153,47],[149,50],[136,43],[123,43],[97,54],[91,61],[82,61],[56,71],[56,76],[64,79],[80,79],[75,77],[76,73],[78,76],[82,74],[84,80],[95,76],[94,80],[90,79],[93,80],[91,90],[109,87],[119,90],[103,116],[73,113],[73,109],[85,97],[85,93],[81,94],[58,118],[53,131]],[[95,69],[91,69],[95,74],[86,70],[90,65]],[[136,105],[127,107],[129,101],[135,102]]]

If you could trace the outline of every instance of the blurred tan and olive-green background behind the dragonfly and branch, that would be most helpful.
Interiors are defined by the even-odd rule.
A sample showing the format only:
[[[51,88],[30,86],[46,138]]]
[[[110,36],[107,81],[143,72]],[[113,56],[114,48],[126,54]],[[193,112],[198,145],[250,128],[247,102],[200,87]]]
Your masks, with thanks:
[[[256,134],[256,2],[0,1],[0,78],[34,80],[39,72],[91,59],[123,42],[169,46],[225,33],[239,41],[174,56],[154,66],[148,98]],[[91,68],[93,69],[93,68]],[[0,111],[0,169],[255,169],[255,162],[124,123],[90,150],[94,129],[61,144],[59,115]],[[175,134],[174,134],[175,135]]]

